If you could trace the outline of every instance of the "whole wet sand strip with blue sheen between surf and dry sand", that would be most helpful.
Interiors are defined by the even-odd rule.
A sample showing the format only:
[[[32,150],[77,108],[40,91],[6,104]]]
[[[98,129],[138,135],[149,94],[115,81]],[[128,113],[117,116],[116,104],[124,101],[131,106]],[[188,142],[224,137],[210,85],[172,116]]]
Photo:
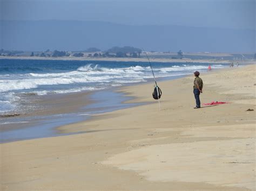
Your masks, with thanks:
[[[171,77],[161,77],[159,81],[169,81],[180,79],[182,76],[171,76]],[[149,79],[147,82],[139,82],[136,85],[143,85],[153,83],[153,79]],[[0,117],[1,129],[3,137],[11,137],[11,135],[17,134],[19,132],[21,135],[31,134],[30,129],[35,131],[38,128],[44,129],[44,131],[51,131],[49,133],[42,133],[43,135],[37,136],[34,132],[32,137],[25,138],[9,138],[8,140],[0,140],[1,143],[10,143],[20,140],[46,138],[46,137],[56,137],[56,136],[66,136],[72,133],[65,133],[61,130],[59,131],[59,126],[76,124],[79,122],[85,122],[89,119],[93,120],[93,117],[97,114],[105,114],[110,111],[116,111],[120,109],[126,109],[131,107],[137,107],[138,105],[149,104],[151,102],[136,102],[136,98],[123,93],[122,89],[125,87],[134,86],[134,83],[125,84],[122,87],[112,87],[102,90],[93,91],[81,91],[77,93],[68,94],[50,94],[33,97],[33,100],[37,100],[38,109],[30,111],[25,114],[8,114],[10,117]],[[100,96],[99,96],[100,95]],[[104,104],[101,95],[105,98],[115,101],[110,104]],[[95,98],[96,96],[96,98]],[[35,102],[35,101],[32,101]],[[83,103],[82,105],[80,103]],[[153,102],[152,102],[153,103]],[[57,108],[56,108],[57,107]],[[77,117],[77,116],[84,116]],[[63,124],[62,118],[65,117],[66,124]],[[73,119],[71,119],[73,118]],[[1,120],[2,119],[2,120]],[[8,120],[10,119],[10,121]],[[71,121],[68,121],[70,119]],[[8,122],[9,121],[9,122]],[[58,122],[59,121],[59,122]],[[6,123],[2,123],[6,122]],[[48,123],[48,126],[43,125]],[[50,125],[54,123],[55,125]],[[79,132],[75,132],[79,133]],[[83,132],[81,132],[83,133]]]

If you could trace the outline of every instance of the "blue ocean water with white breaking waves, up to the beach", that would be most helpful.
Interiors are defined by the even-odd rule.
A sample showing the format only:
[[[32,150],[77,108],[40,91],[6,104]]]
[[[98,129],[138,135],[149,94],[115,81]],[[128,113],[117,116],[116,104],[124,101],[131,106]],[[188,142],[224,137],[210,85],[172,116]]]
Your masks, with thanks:
[[[152,62],[152,66],[156,77],[161,78],[204,72],[208,63]],[[152,77],[148,62],[2,59],[0,115],[22,112],[29,96],[107,89]]]

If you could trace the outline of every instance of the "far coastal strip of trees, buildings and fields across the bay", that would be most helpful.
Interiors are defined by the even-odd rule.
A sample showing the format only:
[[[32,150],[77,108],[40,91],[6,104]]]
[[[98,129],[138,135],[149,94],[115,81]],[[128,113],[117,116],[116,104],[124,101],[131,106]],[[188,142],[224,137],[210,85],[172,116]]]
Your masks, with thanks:
[[[91,52],[95,51],[95,52]],[[181,49],[178,52],[156,52],[147,51],[148,56],[152,59],[191,59],[191,60],[256,60],[256,53],[210,53],[210,52],[198,52],[189,53],[183,52]],[[51,51],[49,48],[46,51],[16,51],[16,50],[5,50],[0,49],[0,56],[38,56],[42,58],[61,58],[69,56],[72,58],[145,58],[145,54],[142,54],[142,49],[124,46],[114,46],[100,51],[99,48],[90,47],[86,51]]]

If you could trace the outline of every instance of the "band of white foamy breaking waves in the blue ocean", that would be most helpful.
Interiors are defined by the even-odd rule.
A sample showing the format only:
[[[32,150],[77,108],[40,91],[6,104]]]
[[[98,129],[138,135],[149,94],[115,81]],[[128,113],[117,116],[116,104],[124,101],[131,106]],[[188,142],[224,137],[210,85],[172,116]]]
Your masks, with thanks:
[[[212,68],[223,68],[223,65],[213,65]],[[156,67],[154,68],[154,71],[156,72],[157,77],[166,77],[172,76],[172,72],[186,72],[201,69],[207,69],[207,66]],[[77,70],[72,72],[46,74],[30,73],[26,74],[23,79],[1,80],[0,92],[35,89],[43,85],[73,83],[136,83],[143,82],[145,79],[151,77],[152,74],[150,67],[131,66],[126,68],[104,68],[99,67],[99,65],[93,66],[89,64],[79,67]],[[59,93],[61,92],[62,91],[59,91]]]

